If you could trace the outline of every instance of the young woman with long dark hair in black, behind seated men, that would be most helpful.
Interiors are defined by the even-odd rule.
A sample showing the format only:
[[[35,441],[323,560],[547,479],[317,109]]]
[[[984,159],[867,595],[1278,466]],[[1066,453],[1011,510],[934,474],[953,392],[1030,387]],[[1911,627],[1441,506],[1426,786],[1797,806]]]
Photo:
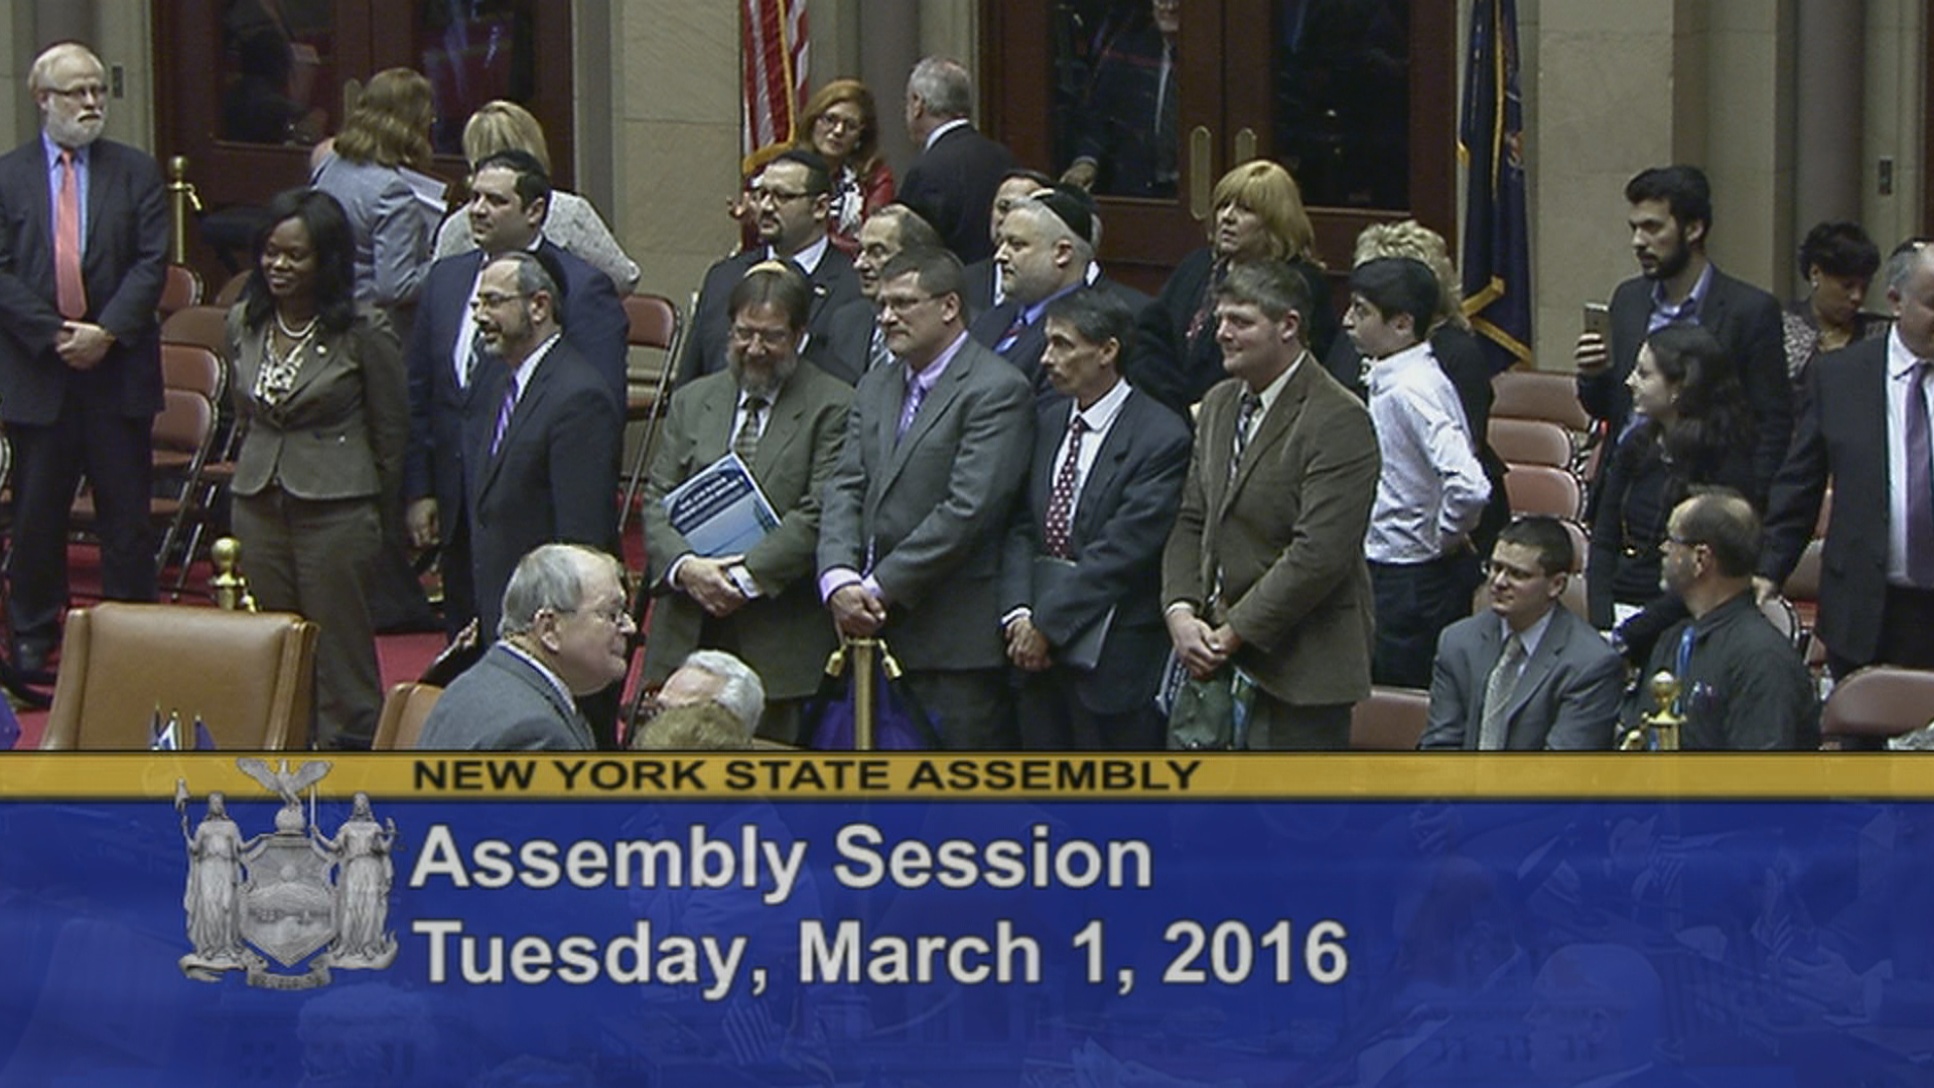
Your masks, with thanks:
[[[1667,325],[1638,348],[1625,383],[1642,417],[1611,452],[1592,560],[1586,566],[1592,626],[1615,630],[1630,661],[1685,618],[1677,597],[1659,593],[1659,545],[1673,506],[1696,487],[1729,487],[1754,506],[1752,415],[1733,358],[1700,325]]]

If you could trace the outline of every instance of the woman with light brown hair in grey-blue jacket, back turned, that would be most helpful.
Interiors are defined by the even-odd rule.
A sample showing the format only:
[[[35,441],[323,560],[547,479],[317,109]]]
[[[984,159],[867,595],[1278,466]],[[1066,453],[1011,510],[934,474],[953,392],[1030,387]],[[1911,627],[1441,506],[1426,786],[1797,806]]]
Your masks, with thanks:
[[[358,305],[391,311],[404,338],[439,211],[412,184],[429,166],[435,120],[429,79],[408,68],[377,72],[309,178],[350,216]]]

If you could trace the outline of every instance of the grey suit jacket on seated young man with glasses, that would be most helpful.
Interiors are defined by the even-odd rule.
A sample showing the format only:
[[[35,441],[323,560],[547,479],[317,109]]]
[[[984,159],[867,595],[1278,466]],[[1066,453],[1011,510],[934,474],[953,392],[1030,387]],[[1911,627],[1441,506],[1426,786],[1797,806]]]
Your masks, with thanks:
[[[1483,690],[1505,647],[1493,613],[1466,616],[1437,636],[1429,723],[1418,748],[1478,748]],[[1524,661],[1505,711],[1505,748],[1611,748],[1625,696],[1625,659],[1563,605],[1551,607],[1538,649]]]

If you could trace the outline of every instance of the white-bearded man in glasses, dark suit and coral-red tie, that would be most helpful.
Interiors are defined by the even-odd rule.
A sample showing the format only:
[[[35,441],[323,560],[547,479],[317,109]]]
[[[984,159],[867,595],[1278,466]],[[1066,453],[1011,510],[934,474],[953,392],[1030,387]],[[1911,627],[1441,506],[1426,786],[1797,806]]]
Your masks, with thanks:
[[[101,139],[99,56],[56,44],[35,58],[27,91],[41,133],[0,158],[0,421],[15,456],[14,663],[35,674],[68,607],[68,508],[83,473],[101,595],[155,599],[149,441],[168,211],[155,160]]]

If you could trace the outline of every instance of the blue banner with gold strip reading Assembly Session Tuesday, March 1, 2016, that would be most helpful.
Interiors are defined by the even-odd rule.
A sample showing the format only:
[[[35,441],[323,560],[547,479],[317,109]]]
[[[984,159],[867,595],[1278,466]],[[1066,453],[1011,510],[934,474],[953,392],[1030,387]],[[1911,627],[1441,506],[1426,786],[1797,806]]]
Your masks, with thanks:
[[[1681,759],[21,756],[0,1084],[1934,1082],[1934,804]]]

